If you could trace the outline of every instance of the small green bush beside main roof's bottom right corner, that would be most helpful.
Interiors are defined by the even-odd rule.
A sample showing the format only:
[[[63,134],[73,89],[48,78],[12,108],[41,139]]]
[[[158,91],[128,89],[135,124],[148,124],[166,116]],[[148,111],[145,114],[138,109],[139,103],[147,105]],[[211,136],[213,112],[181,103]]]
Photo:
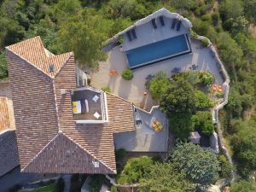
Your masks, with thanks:
[[[153,160],[150,157],[142,156],[127,161],[123,172],[117,178],[118,183],[138,183],[150,172]]]

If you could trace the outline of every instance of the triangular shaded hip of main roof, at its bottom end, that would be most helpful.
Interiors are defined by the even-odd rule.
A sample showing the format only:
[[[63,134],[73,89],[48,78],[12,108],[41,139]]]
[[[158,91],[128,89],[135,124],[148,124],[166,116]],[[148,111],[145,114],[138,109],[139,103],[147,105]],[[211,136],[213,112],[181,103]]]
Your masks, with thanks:
[[[57,155],[56,155],[57,154]],[[90,172],[113,173],[108,166],[99,162],[95,167],[94,162],[99,162],[77,143],[74,143],[64,133],[58,135],[24,168],[25,172]],[[40,166],[38,166],[40,165]],[[54,165],[54,166],[53,166]]]

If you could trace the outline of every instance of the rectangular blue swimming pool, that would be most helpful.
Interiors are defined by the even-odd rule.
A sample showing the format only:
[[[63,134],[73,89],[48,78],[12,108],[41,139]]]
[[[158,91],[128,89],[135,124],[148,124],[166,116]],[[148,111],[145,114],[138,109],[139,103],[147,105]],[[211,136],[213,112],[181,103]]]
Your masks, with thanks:
[[[190,52],[186,35],[178,35],[153,44],[127,50],[126,56],[131,68],[141,67],[154,61],[171,58]]]

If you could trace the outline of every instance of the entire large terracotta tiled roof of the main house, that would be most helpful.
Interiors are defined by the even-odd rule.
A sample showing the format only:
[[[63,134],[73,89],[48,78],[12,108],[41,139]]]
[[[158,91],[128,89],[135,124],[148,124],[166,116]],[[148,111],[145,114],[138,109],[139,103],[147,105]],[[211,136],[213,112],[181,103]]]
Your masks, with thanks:
[[[22,171],[115,173],[113,132],[134,130],[132,103],[108,94],[109,123],[76,124],[70,94],[61,95],[76,88],[73,54],[51,56],[63,60],[50,74],[40,38],[6,52]]]

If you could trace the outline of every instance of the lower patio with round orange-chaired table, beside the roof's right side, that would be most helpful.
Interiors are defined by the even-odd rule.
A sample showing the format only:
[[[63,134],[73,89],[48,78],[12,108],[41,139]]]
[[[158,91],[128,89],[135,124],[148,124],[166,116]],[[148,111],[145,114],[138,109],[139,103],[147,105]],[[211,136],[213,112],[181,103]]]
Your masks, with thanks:
[[[152,113],[137,109],[135,116],[142,120],[142,125],[137,126],[136,131],[114,134],[114,148],[133,152],[166,152],[169,137],[166,115],[155,108]],[[164,129],[159,133],[151,129],[152,119],[159,120],[163,125]]]

